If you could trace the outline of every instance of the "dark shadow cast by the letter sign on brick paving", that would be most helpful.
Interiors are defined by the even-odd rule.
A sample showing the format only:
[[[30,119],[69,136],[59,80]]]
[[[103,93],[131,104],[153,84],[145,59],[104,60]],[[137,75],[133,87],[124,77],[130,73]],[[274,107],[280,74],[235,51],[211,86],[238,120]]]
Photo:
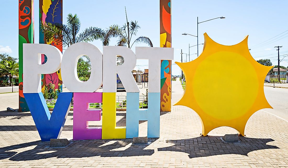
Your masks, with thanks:
[[[156,138],[150,139],[154,142]],[[70,141],[65,148],[50,148],[49,142],[29,142],[0,148],[0,160],[10,158],[12,161],[28,161],[57,158],[82,158],[82,157],[120,157],[120,156],[147,156],[154,153],[154,150],[147,149],[145,145],[131,145],[132,139],[124,140],[81,140]],[[37,145],[34,149],[17,153],[19,148]]]

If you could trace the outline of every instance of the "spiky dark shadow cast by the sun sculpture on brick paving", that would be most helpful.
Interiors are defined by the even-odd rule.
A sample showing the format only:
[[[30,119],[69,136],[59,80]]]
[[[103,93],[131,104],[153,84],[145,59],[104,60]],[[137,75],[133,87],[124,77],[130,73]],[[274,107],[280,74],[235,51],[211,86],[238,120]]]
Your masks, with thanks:
[[[249,152],[262,149],[279,149],[277,146],[267,145],[272,139],[239,137],[240,142],[223,142],[219,136],[197,137],[183,140],[168,140],[174,145],[158,148],[158,151],[177,151],[189,154],[190,158],[214,156],[221,154],[241,154],[248,156]],[[275,152],[276,153],[276,152]]]

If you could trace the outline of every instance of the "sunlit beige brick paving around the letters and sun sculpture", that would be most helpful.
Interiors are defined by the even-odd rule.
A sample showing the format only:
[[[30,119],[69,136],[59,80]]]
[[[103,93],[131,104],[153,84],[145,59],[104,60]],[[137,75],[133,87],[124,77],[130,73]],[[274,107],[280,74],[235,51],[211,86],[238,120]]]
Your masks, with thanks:
[[[173,102],[182,95],[173,81]],[[73,112],[60,138],[72,139]],[[101,122],[94,122],[101,125]],[[0,112],[0,167],[288,167],[288,123],[258,111],[249,119],[241,142],[225,143],[220,127],[200,137],[198,115],[190,108],[173,106],[161,113],[160,138],[149,145],[132,145],[131,139],[71,141],[66,148],[50,148],[41,142],[29,112]],[[125,125],[125,113],[117,113],[117,126]],[[147,122],[140,124],[145,136]],[[167,143],[166,143],[166,140]]]

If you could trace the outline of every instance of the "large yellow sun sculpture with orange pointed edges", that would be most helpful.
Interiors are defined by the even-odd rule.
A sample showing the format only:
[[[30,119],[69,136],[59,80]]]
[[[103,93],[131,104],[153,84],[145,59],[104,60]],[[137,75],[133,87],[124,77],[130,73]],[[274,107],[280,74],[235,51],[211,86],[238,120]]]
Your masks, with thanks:
[[[228,126],[244,135],[251,115],[272,108],[264,95],[264,80],[273,66],[256,62],[248,49],[248,36],[236,45],[221,45],[204,34],[204,49],[194,61],[177,65],[186,79],[184,94],[175,105],[187,106],[200,116],[202,135]]]

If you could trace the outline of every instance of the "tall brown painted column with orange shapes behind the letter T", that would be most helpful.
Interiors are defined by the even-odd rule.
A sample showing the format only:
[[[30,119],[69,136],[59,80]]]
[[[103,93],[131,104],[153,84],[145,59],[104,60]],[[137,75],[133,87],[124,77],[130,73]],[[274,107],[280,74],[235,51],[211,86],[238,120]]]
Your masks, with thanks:
[[[171,0],[160,0],[160,47],[171,47]],[[171,111],[171,60],[161,61],[160,111]]]

